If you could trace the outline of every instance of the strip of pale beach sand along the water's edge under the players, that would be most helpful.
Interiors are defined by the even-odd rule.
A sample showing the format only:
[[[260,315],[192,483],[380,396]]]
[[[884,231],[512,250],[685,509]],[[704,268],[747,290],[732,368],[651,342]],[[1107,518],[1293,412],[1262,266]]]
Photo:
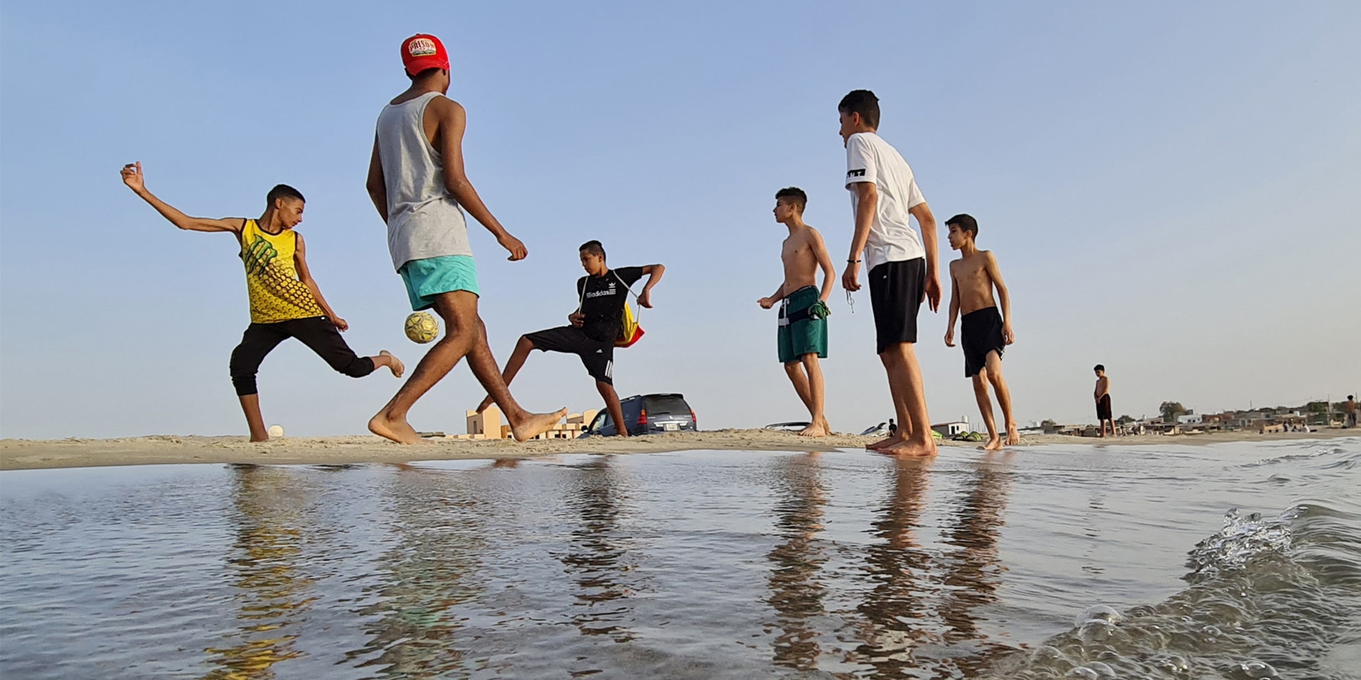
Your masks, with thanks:
[[[1094,439],[1067,435],[1025,435],[1021,446],[1100,445],[1185,446],[1245,441],[1330,439],[1361,437],[1361,430],[1256,434],[1138,435]],[[0,471],[88,468],[101,465],[166,465],[186,462],[253,462],[264,465],[343,465],[464,458],[517,458],[559,453],[661,453],[682,450],[818,452],[863,447],[876,438],[837,434],[810,439],[774,430],[713,430],[672,432],[629,439],[550,439],[516,443],[509,439],[427,439],[400,446],[373,435],[284,437],[252,443],[244,437],[155,435],[120,439],[0,439]],[[945,446],[977,447],[976,442]]]

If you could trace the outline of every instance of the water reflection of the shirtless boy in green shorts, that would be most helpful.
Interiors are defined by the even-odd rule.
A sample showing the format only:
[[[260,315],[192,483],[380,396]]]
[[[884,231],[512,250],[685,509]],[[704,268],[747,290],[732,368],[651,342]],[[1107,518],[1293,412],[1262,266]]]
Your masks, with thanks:
[[[822,649],[808,619],[823,613],[825,586],[814,577],[827,560],[821,541],[826,491],[817,453],[785,456],[776,462],[778,500],[774,506],[776,532],[784,537],[766,558],[770,568],[770,597],[781,632],[774,639],[774,664],[796,670],[814,670]]]

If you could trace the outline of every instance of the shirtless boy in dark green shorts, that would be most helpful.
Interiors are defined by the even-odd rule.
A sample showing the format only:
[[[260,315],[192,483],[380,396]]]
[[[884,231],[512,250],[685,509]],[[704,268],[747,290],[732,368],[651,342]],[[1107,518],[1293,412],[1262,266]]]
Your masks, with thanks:
[[[776,302],[781,303],[777,330],[780,363],[811,416],[808,427],[799,434],[826,437],[832,434],[832,426],[822,412],[822,367],[818,359],[827,358],[827,296],[837,272],[832,268],[822,234],[803,223],[807,204],[808,196],[796,186],[776,192],[774,220],[789,227],[789,238],[784,239],[780,250],[784,282],[774,295],[758,299],[757,305],[770,309]],[[815,286],[818,268],[822,269],[821,290]]]

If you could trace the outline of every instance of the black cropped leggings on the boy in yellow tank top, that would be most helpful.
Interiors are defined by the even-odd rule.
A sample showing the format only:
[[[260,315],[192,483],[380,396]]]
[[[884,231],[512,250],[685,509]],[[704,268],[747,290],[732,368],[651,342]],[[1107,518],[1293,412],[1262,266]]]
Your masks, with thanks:
[[[264,360],[279,343],[297,337],[302,344],[317,352],[332,369],[351,377],[362,378],[373,373],[373,359],[359,356],[350,350],[335,324],[327,317],[293,318],[276,324],[250,324],[241,336],[241,344],[231,351],[231,385],[237,396],[256,394],[255,377]]]

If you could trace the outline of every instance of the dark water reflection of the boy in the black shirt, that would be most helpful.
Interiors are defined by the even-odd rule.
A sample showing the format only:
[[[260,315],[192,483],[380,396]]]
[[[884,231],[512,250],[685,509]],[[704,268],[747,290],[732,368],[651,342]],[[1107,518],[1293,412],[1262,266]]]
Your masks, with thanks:
[[[570,468],[572,479],[566,503],[581,518],[572,530],[566,554],[558,559],[577,583],[572,623],[583,635],[610,635],[627,642],[634,634],[621,622],[630,613],[630,589],[619,575],[632,566],[625,563],[626,536],[619,528],[627,502],[621,472],[610,465],[608,456],[593,457],[585,465]]]

